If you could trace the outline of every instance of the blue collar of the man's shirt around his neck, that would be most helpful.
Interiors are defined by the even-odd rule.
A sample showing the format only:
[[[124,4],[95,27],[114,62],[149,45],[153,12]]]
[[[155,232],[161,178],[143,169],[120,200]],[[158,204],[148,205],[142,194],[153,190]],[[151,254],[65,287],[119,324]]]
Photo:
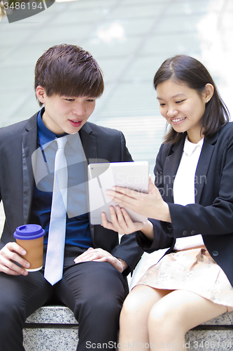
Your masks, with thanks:
[[[78,150],[78,142],[80,140],[79,133],[76,133],[76,134],[64,133],[62,135],[57,135],[57,134],[53,133],[52,131],[50,131],[50,129],[48,129],[45,126],[45,124],[42,121],[42,115],[44,112],[45,112],[45,108],[43,107],[41,109],[41,111],[38,112],[38,116],[37,116],[38,138],[40,140],[41,150],[44,150],[45,147],[48,147],[48,145],[50,145],[52,143],[52,141],[55,140],[56,138],[60,138],[64,135],[69,135],[67,137],[67,140],[68,140],[69,144],[71,145],[71,147],[73,147],[73,150],[77,151]]]

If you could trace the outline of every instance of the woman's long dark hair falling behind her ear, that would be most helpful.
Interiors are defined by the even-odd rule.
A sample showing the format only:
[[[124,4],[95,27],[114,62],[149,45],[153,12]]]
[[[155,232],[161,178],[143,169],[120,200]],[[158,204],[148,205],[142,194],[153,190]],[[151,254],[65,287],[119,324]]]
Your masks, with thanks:
[[[206,84],[213,85],[213,96],[209,102],[206,102],[206,110],[201,119],[201,131],[204,136],[209,137],[215,134],[230,121],[229,111],[220,98],[211,75],[201,62],[187,55],[176,55],[173,58],[168,58],[155,74],[155,90],[158,84],[167,81],[167,79],[172,79],[178,84],[185,83],[189,88],[195,89],[199,95],[202,95]],[[177,133],[171,127],[164,137],[164,143],[178,143],[182,134]]]

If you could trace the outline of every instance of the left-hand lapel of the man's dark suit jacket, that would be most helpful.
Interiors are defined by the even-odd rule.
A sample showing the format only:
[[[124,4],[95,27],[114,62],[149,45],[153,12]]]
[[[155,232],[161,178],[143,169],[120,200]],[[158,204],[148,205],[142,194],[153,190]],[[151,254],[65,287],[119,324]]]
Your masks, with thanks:
[[[29,119],[22,135],[22,186],[24,223],[28,223],[34,190],[31,154],[37,147],[37,113]]]

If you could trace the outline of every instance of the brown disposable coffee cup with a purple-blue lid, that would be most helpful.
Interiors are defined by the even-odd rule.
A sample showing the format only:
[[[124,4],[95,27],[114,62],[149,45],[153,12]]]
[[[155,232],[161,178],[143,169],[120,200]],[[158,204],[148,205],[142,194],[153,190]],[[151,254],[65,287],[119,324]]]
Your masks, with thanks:
[[[20,225],[14,232],[14,237],[17,244],[27,251],[25,256],[22,256],[30,263],[28,272],[36,272],[43,267],[43,237],[45,230],[41,225],[27,224]]]

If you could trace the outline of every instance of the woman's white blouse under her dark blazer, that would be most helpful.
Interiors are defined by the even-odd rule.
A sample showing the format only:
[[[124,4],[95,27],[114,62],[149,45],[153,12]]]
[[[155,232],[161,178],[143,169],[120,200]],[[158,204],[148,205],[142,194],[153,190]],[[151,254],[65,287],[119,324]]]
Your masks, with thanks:
[[[195,173],[203,143],[204,138],[197,144],[190,143],[188,135],[185,139],[183,155],[174,180],[174,204],[183,206],[195,204]],[[183,250],[201,245],[204,245],[202,235],[197,234],[192,237],[177,238],[174,249]]]

